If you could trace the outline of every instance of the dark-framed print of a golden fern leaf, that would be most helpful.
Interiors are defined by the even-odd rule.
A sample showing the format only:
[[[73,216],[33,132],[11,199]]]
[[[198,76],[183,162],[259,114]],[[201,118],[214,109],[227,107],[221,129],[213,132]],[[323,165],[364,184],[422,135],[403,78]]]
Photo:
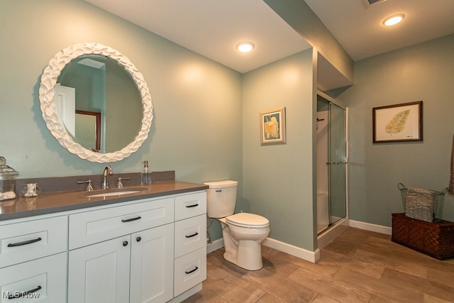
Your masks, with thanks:
[[[423,141],[423,101],[372,109],[373,143]]]

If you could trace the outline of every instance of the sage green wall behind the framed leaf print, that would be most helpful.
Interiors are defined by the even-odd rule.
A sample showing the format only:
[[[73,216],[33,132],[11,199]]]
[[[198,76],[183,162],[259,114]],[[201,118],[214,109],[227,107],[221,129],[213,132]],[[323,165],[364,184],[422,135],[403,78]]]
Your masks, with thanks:
[[[355,62],[355,84],[338,95],[350,111],[350,219],[391,226],[403,212],[397,184],[441,190],[454,134],[454,35]],[[423,101],[423,142],[372,144],[372,108]],[[443,219],[454,221],[447,194]]]

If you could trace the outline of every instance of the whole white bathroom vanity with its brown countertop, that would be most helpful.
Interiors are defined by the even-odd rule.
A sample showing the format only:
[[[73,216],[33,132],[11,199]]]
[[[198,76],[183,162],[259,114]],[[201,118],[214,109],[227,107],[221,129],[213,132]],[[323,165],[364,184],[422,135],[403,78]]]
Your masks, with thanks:
[[[201,290],[206,186],[140,189],[2,202],[0,302],[180,302]]]

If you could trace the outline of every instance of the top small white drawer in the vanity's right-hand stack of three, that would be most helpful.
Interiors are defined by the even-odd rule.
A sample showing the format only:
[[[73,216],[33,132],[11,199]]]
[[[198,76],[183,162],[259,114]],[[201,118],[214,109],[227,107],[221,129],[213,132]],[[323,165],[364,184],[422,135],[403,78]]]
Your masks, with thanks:
[[[175,221],[206,214],[206,192],[175,197]]]

